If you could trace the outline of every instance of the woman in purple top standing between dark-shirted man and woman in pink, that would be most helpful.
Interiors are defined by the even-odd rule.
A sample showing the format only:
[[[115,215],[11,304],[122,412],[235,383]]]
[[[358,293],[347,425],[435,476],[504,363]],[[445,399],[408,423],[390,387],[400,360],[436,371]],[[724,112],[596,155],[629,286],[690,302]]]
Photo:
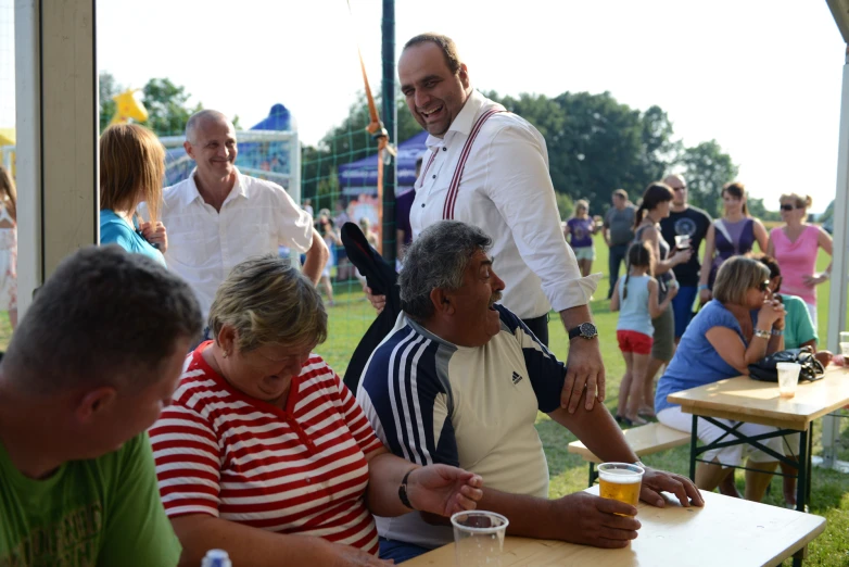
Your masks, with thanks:
[[[705,237],[705,256],[699,276],[699,301],[710,301],[713,280],[723,262],[732,256],[748,254],[758,242],[761,252],[766,251],[769,235],[759,219],[749,215],[746,204],[746,187],[738,181],[722,188],[722,218],[715,219]]]

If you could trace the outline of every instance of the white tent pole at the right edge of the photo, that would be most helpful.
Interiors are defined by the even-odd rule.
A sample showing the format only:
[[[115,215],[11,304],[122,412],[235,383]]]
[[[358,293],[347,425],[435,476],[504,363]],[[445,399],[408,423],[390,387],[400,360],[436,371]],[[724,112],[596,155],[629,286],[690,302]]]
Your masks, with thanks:
[[[844,85],[840,96],[840,139],[837,147],[837,191],[834,200],[834,252],[832,255],[832,290],[828,297],[828,350],[840,352],[839,332],[846,330],[847,256],[849,255],[849,46],[844,64]],[[823,417],[823,463],[833,468],[836,465],[838,419]]]

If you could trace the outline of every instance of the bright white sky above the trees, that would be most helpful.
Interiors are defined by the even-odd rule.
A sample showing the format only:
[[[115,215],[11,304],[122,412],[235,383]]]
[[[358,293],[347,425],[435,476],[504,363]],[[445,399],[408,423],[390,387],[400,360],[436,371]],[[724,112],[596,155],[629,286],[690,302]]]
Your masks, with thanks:
[[[0,127],[14,116],[12,3],[0,0]],[[315,143],[363,88],[356,39],[380,89],[382,2],[351,5],[100,0],[98,64],[130,87],[168,77],[244,126],[281,102]],[[395,20],[398,51],[421,32],[452,36],[482,90],[660,105],[686,144],[717,139],[769,209],[785,191],[814,211],[834,196],[845,46],[824,0],[397,0]]]

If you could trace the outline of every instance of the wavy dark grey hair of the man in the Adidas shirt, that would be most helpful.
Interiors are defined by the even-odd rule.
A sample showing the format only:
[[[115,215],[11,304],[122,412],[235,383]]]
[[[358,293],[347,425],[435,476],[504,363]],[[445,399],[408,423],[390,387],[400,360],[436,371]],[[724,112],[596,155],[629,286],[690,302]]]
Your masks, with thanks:
[[[441,220],[424,229],[407,249],[398,275],[402,308],[415,320],[428,319],[434,312],[430,292],[460,289],[471,257],[491,247],[483,230],[459,220]]]

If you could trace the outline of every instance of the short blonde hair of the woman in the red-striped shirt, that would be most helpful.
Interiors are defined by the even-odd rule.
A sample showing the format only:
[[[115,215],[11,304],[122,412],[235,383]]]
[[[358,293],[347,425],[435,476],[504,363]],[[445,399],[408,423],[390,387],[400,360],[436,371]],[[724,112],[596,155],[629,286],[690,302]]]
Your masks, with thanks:
[[[315,286],[288,260],[275,255],[237,264],[218,287],[210,308],[210,330],[227,325],[246,352],[265,344],[318,344],[327,339],[327,311]]]

